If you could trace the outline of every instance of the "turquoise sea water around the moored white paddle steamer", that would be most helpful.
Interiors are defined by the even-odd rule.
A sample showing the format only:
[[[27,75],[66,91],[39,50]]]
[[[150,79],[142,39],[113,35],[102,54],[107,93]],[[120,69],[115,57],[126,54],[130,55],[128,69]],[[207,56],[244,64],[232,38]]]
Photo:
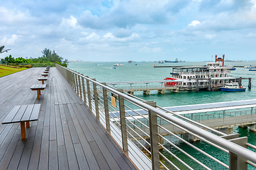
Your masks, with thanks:
[[[166,77],[170,77],[170,72],[172,72],[171,67],[166,68],[154,68],[155,65],[165,65],[158,64],[156,62],[123,62],[123,67],[117,67],[113,69],[113,64],[116,62],[77,62],[69,63],[69,68],[76,72],[82,73],[94,78],[101,82],[113,82],[113,81],[154,81],[162,80]],[[204,65],[206,62],[184,62],[184,63],[168,63],[166,65]],[[226,65],[232,64],[233,66],[241,65],[256,65],[256,62],[226,62]],[[233,77],[251,77],[252,78],[252,89],[246,89],[246,91],[241,92],[222,92],[222,91],[179,91],[179,93],[166,92],[165,94],[157,94],[157,91],[150,91],[150,95],[144,95],[142,91],[136,91],[135,96],[143,98],[146,101],[156,101],[158,106],[168,107],[168,106],[183,106],[191,104],[201,104],[201,103],[215,103],[215,102],[225,102],[225,101],[241,101],[250,100],[256,98],[256,72],[250,72],[248,69],[241,67],[236,68],[235,71],[231,71]],[[248,85],[247,80],[242,81],[243,86]],[[233,128],[234,133],[239,133],[240,137],[248,137],[248,142],[252,145],[256,145],[256,133],[250,132],[249,129],[241,129],[238,127]],[[182,146],[187,152],[193,155],[197,154],[197,157],[201,158],[203,162],[208,162],[212,165],[213,169],[222,169],[222,166],[218,166],[215,162],[209,159],[205,159],[203,155],[195,152],[194,149],[187,147],[184,143],[178,143],[177,145]],[[204,149],[208,154],[218,157],[221,154],[221,160],[227,160],[228,155],[223,152],[218,152],[215,148],[205,145],[204,142],[199,142],[194,144],[196,147]],[[180,152],[174,148],[169,147],[172,152],[182,156]],[[167,154],[164,152],[164,154]],[[172,159],[170,157],[170,159]],[[189,159],[188,159],[189,160]],[[195,169],[201,169],[195,166]],[[184,167],[182,169],[185,169]],[[252,166],[248,166],[248,169],[253,169]]]

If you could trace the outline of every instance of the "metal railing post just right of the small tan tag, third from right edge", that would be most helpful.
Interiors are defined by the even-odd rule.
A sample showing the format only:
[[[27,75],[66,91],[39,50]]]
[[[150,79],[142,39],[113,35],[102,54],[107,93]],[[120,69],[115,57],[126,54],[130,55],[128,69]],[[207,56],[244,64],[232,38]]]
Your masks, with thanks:
[[[123,93],[123,89],[118,89],[119,92]],[[121,134],[122,134],[122,144],[123,152],[128,155],[128,141],[126,132],[126,112],[124,105],[124,98],[118,95],[119,112],[120,112],[120,124],[121,124]]]

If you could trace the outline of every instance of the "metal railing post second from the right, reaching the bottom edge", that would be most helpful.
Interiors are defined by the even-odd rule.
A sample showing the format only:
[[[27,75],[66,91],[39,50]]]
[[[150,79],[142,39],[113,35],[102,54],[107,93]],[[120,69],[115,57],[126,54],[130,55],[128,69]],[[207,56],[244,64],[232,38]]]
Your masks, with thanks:
[[[146,101],[150,106],[156,107],[157,104],[154,101]],[[152,169],[160,169],[160,156],[159,156],[159,146],[158,146],[158,132],[157,132],[157,114],[148,111],[149,117],[149,127],[150,127],[150,150],[152,159]]]

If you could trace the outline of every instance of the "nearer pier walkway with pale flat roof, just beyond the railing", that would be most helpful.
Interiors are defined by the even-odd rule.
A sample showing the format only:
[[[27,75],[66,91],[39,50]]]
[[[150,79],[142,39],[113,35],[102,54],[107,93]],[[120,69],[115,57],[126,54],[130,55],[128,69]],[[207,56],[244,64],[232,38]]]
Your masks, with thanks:
[[[228,135],[233,133],[234,126],[238,126],[240,128],[249,128],[250,131],[256,132],[256,100],[207,103],[165,108],[157,106],[157,108],[166,111],[166,113],[179,115],[196,123],[206,125],[209,128],[218,130]],[[129,115],[133,115],[135,113],[136,119],[140,119],[141,122],[148,124],[148,120],[141,116],[144,115],[144,117],[148,118],[148,113],[145,111],[138,110],[136,112],[127,112]],[[135,121],[135,118],[130,117],[129,119],[130,121]],[[113,118],[112,121],[116,122],[118,121],[118,118]],[[160,120],[159,124],[176,135],[180,134],[189,141],[199,141],[199,139],[194,137],[194,135],[189,135],[189,133],[185,132],[184,130],[177,128],[172,124],[165,123],[165,121]],[[130,133],[133,133],[133,136],[135,137],[138,137],[138,135],[143,136],[143,133],[140,132],[138,128],[130,130]],[[171,135],[169,132],[163,130],[160,131],[160,134],[162,136]],[[148,139],[148,136],[144,135],[143,137]],[[161,141],[161,139],[159,140]]]

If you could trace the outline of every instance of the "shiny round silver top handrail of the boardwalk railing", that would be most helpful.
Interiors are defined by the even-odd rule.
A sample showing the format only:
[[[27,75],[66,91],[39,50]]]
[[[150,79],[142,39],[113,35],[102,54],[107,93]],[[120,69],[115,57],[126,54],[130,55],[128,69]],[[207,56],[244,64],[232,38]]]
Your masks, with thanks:
[[[61,67],[58,65],[58,67]],[[65,67],[62,67],[63,69],[66,69]],[[147,109],[149,112],[156,113],[157,115],[160,115],[163,118],[166,118],[169,121],[172,121],[172,123],[175,123],[179,126],[181,126],[184,129],[189,130],[190,132],[194,132],[197,135],[200,135],[201,137],[204,137],[204,139],[209,140],[216,145],[219,145],[225,149],[228,149],[230,152],[233,152],[235,154],[238,154],[240,157],[244,157],[247,160],[250,160],[250,162],[256,163],[256,153],[252,152],[249,149],[246,149],[245,147],[242,147],[240,145],[237,145],[233,142],[230,142],[229,140],[223,139],[222,137],[219,137],[218,135],[214,135],[211,132],[208,132],[206,130],[203,130],[196,125],[191,125],[191,123],[187,123],[184,120],[181,120],[180,118],[176,118],[173,115],[169,113],[165,113],[164,111],[160,111],[155,107],[152,107],[146,103],[143,103],[142,101],[138,101],[137,99],[134,99],[130,96],[127,96],[126,94],[123,94],[119,91],[116,91],[116,89],[113,89],[110,86],[106,86],[104,84],[101,84],[99,81],[95,81],[93,79],[90,79],[89,77],[85,77],[82,74],[78,74],[77,72],[72,71],[71,69],[67,69],[72,74],[77,74],[79,77],[82,77],[83,79],[87,79],[91,81],[93,84],[96,84],[97,86],[101,86],[103,89],[106,89],[107,91],[112,92],[113,94],[116,94],[124,99],[126,101],[132,101],[133,103],[137,104],[138,106],[141,106],[145,109]],[[66,75],[67,77],[67,75]],[[76,88],[76,87],[74,87]],[[78,89],[77,89],[78,91]]]

